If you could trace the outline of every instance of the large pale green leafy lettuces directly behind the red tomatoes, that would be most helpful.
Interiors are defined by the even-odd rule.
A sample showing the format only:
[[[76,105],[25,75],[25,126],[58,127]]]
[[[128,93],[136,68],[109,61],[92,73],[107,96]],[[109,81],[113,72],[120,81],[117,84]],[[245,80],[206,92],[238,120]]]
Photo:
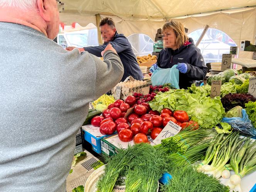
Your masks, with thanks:
[[[191,120],[197,121],[204,128],[213,128],[221,122],[225,109],[219,97],[211,99],[205,93],[189,93],[188,90],[177,89],[159,93],[149,103],[153,110],[163,108],[187,111]]]

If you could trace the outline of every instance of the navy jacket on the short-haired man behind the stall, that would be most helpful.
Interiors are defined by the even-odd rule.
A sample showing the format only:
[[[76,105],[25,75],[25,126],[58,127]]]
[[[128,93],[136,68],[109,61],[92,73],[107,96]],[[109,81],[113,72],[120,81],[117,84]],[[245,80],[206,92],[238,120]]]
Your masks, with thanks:
[[[132,76],[136,80],[143,80],[144,76],[141,72],[140,66],[137,62],[137,59],[131,49],[131,44],[128,39],[123,34],[118,34],[116,32],[115,37],[111,42],[106,42],[104,45],[96,46],[96,47],[84,47],[85,51],[89,53],[101,57],[101,51],[103,51],[108,44],[111,44],[113,48],[118,53],[120,57],[125,72],[123,74],[123,78],[121,81],[124,81],[126,77]]]

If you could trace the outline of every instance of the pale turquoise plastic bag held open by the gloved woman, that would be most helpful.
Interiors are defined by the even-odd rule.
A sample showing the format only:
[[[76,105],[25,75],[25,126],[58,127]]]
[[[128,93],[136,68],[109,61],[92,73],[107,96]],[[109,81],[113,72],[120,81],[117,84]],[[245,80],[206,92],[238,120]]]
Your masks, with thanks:
[[[150,71],[153,71],[151,76],[152,85],[171,84],[173,88],[179,89],[179,70],[176,69],[176,66],[177,65],[174,65],[172,68],[162,69],[153,65],[150,68]]]

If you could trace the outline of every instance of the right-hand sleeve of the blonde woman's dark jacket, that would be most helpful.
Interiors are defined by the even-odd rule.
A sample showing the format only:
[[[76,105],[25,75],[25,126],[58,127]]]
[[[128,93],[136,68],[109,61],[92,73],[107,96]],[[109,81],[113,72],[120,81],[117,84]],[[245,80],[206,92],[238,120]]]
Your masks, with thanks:
[[[208,68],[204,64],[204,58],[199,49],[196,49],[190,55],[190,64],[187,63],[187,66],[187,77],[193,80],[203,80],[205,78]]]

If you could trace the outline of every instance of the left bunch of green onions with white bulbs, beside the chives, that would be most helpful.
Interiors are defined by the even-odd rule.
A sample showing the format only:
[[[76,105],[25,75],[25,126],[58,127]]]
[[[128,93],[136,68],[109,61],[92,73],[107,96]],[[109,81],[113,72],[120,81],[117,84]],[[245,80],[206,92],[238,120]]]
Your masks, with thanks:
[[[220,141],[221,136],[218,141]],[[243,143],[245,139],[239,139],[239,133],[232,133],[226,136],[224,140],[216,145],[216,152],[214,153],[215,147],[213,147],[213,152],[208,152],[208,158],[203,161],[208,163],[202,165],[201,170],[203,170],[208,175],[213,175],[216,178],[221,177],[222,171],[225,170],[225,165],[229,162],[229,159],[235,152],[236,148]],[[212,154],[214,153],[213,157]],[[210,155],[209,155],[210,154]],[[209,160],[212,157],[212,163],[209,165]]]

